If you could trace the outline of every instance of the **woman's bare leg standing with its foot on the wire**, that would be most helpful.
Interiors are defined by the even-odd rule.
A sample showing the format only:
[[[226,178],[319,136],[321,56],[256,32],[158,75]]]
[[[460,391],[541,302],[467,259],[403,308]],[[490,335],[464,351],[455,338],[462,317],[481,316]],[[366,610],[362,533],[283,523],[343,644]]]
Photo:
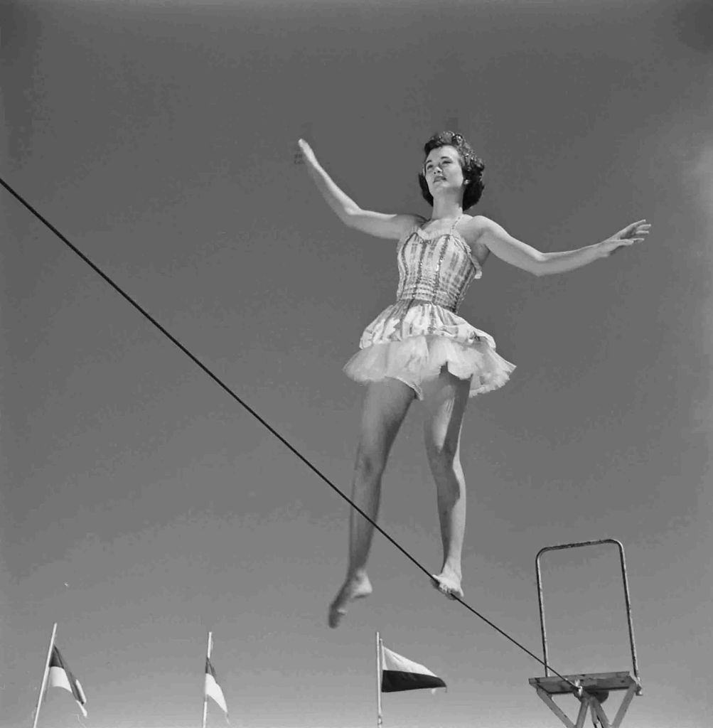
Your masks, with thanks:
[[[468,404],[470,379],[448,371],[425,387],[424,435],[428,463],[436,480],[443,566],[434,574],[438,589],[462,597],[461,554],[465,534],[465,478],[460,465],[460,430]]]

